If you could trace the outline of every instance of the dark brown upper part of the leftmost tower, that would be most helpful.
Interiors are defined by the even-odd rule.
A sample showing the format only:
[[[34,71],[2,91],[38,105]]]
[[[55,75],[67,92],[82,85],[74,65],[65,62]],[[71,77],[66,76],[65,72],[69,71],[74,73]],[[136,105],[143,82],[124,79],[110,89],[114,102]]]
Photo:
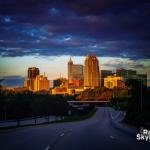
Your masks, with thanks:
[[[40,74],[39,68],[36,68],[36,67],[28,68],[28,78],[29,79],[35,79],[36,76],[39,74]]]

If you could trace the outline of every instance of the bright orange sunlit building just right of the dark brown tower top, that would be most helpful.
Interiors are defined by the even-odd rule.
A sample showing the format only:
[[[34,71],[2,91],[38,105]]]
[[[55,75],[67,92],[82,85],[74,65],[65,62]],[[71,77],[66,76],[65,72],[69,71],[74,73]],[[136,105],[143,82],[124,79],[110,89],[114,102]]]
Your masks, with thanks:
[[[36,76],[34,80],[34,91],[49,90],[49,80],[43,75]]]

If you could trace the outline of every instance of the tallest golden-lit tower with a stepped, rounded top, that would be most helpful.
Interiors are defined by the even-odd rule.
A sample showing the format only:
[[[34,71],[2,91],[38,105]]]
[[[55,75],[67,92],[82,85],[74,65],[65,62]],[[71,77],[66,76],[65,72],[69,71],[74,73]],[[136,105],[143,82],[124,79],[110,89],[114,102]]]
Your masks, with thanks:
[[[84,62],[84,87],[100,86],[99,61],[95,55],[87,55]]]

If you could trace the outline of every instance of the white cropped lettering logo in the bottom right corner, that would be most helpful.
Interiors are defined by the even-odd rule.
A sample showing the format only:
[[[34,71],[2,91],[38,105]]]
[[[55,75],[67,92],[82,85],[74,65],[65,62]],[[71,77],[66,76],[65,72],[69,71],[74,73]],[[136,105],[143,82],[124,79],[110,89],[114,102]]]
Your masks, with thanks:
[[[139,133],[136,135],[138,141],[149,141],[150,142],[150,130],[141,128]]]

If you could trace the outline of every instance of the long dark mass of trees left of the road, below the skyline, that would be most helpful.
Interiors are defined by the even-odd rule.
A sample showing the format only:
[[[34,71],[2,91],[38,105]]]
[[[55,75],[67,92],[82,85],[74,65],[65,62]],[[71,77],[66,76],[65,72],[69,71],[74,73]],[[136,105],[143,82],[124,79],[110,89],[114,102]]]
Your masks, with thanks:
[[[68,113],[68,99],[70,98],[61,95],[0,90],[0,120],[44,115],[64,116]]]

